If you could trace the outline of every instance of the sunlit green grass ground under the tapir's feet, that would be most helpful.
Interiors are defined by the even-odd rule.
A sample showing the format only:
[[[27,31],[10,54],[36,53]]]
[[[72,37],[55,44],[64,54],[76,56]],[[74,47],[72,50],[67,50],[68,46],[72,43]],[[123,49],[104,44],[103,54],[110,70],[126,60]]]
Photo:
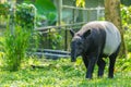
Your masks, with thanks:
[[[32,67],[31,65],[39,65]],[[115,78],[107,78],[107,67],[103,78],[97,78],[95,66],[93,79],[85,78],[85,67],[81,59],[71,63],[70,59],[28,59],[17,72],[0,71],[0,87],[131,87],[131,71],[121,71],[116,65]]]

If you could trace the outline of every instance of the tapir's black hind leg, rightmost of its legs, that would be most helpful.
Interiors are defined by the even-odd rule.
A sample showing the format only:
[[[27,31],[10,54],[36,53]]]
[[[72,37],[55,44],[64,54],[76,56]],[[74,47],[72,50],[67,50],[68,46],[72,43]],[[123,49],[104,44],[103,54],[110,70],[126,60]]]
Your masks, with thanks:
[[[117,49],[117,51],[109,57],[109,73],[108,73],[109,78],[114,77],[115,63],[116,63],[116,58],[118,55],[119,49],[120,49],[120,46]]]

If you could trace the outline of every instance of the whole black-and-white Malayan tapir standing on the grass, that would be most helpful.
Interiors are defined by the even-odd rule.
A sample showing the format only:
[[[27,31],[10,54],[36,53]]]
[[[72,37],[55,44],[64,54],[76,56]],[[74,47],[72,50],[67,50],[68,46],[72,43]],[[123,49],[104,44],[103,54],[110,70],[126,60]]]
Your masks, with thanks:
[[[70,29],[73,36],[71,41],[71,61],[82,55],[86,66],[86,78],[92,78],[95,63],[98,65],[98,77],[104,75],[105,61],[109,57],[108,77],[114,77],[115,62],[118,55],[121,35],[118,28],[107,21],[90,22],[78,32]]]

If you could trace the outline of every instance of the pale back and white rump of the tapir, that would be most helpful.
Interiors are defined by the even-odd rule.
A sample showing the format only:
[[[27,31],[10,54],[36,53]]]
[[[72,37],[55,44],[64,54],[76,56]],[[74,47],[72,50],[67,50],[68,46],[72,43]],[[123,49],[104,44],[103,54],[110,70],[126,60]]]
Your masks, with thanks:
[[[87,29],[93,28],[100,28],[104,29],[106,33],[106,40],[105,40],[105,47],[104,47],[104,53],[110,55],[114,53],[117,48],[120,46],[121,42],[121,36],[118,30],[118,28],[110,22],[107,21],[94,21],[87,23],[85,26],[83,26],[81,32],[85,32]]]

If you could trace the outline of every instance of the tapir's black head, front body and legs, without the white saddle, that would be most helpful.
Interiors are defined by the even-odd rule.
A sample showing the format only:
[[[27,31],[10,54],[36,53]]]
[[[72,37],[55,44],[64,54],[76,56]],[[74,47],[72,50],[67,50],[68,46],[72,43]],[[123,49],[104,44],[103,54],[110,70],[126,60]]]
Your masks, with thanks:
[[[103,53],[106,40],[106,32],[104,27],[98,24],[95,24],[94,26],[86,24],[75,34],[71,30],[71,34],[73,36],[71,42],[71,61],[74,62],[78,55],[82,55],[83,62],[87,69],[86,78],[92,78],[95,63],[98,65],[98,77],[104,75],[106,63],[103,60],[103,57],[109,57],[110,63],[108,77],[112,78],[115,62],[120,46],[111,55]]]

